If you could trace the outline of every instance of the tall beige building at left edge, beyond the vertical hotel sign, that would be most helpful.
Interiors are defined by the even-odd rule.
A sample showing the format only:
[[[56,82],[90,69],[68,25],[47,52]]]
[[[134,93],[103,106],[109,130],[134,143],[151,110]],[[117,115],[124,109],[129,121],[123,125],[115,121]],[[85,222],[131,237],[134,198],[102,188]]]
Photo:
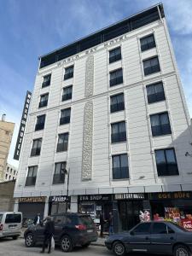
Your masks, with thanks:
[[[3,182],[4,172],[9,154],[11,139],[14,132],[14,123],[6,122],[4,120],[5,114],[0,121],[0,182]]]

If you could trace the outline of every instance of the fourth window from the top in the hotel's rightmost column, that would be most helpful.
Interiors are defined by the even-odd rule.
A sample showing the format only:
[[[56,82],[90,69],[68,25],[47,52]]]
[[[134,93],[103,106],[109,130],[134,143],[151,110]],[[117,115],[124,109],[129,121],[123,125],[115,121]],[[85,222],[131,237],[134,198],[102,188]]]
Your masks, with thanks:
[[[150,121],[153,137],[172,133],[168,113],[152,114]]]

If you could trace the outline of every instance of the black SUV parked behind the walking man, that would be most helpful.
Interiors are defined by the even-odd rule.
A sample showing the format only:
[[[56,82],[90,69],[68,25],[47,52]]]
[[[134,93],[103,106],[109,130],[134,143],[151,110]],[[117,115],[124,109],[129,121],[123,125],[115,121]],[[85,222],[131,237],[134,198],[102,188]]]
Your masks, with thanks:
[[[90,215],[80,213],[61,213],[52,216],[55,222],[55,245],[60,245],[63,252],[70,252],[75,246],[88,247],[97,240],[96,226]],[[42,244],[44,226],[32,225],[24,233],[26,247]]]

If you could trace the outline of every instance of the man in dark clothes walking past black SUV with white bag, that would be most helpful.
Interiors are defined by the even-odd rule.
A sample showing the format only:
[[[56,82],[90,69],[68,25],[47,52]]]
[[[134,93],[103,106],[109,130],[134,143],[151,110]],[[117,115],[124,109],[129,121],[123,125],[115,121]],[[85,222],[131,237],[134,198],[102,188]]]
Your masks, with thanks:
[[[43,244],[43,248],[41,253],[44,253],[44,249],[46,244],[48,243],[48,253],[50,253],[50,248],[51,248],[51,239],[54,235],[54,231],[55,231],[55,224],[54,221],[52,220],[51,217],[47,217],[46,218],[46,224],[45,224],[45,228],[44,228],[44,244]]]

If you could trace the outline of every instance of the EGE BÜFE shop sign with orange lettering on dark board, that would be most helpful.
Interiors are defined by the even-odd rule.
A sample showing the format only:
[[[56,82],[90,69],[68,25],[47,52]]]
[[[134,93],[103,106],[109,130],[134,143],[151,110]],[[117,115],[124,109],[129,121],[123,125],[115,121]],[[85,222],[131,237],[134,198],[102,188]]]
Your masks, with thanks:
[[[168,192],[168,193],[151,193],[148,195],[149,200],[168,200],[168,199],[192,199],[192,192]]]

